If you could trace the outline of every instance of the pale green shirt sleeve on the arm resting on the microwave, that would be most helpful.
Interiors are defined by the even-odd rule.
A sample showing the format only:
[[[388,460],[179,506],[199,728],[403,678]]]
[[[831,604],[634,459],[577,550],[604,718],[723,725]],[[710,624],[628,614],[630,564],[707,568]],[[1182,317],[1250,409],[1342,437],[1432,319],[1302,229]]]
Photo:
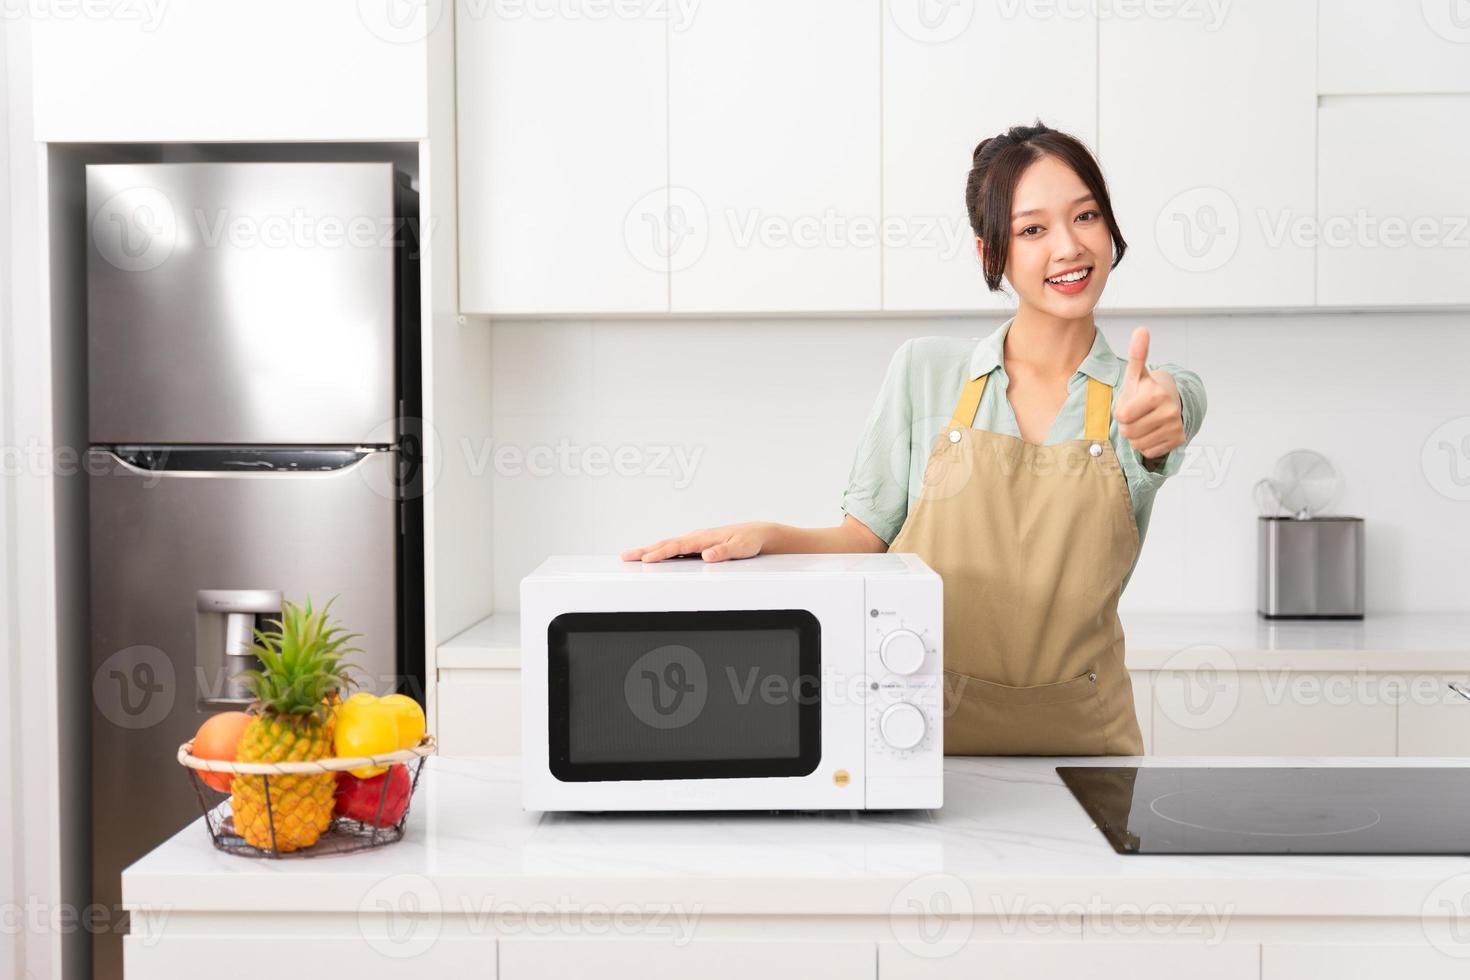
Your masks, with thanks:
[[[913,341],[904,341],[888,363],[888,373],[867,414],[863,438],[853,457],[842,510],[892,544],[908,516],[908,469],[913,454],[911,373]]]

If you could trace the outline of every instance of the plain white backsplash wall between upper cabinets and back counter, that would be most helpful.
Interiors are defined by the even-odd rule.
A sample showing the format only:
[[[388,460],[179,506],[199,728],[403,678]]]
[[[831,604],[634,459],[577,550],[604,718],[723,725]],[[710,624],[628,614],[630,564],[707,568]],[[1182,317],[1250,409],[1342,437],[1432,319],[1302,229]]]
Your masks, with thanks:
[[[492,441],[447,453],[494,504],[495,608],[516,608],[520,576],[547,554],[736,520],[836,523],[894,348],[979,336],[1005,316],[487,323]],[[1252,610],[1251,488],[1302,447],[1342,472],[1333,510],[1367,519],[1370,611],[1470,608],[1470,314],[1098,323],[1120,353],[1150,326],[1151,359],[1198,372],[1210,397],[1155,501],[1125,611]]]

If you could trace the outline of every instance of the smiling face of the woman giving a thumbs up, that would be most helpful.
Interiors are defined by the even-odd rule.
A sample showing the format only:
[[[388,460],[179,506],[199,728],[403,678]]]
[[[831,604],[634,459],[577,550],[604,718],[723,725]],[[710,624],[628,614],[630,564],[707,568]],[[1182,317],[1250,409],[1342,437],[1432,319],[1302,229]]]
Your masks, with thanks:
[[[1107,219],[1082,178],[1051,156],[1026,167],[1016,184],[1004,272],[1017,298],[1061,319],[1085,317],[1102,295],[1111,262]],[[1067,282],[1078,269],[1082,279]]]

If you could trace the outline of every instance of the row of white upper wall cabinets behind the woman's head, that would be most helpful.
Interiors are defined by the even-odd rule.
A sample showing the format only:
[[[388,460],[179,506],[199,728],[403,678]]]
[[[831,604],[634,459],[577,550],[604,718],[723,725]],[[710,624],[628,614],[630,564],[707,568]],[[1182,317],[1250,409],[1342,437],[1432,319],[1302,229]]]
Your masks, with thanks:
[[[964,184],[1038,119],[1111,188],[1104,311],[1466,303],[1452,241],[1333,235],[1466,212],[1467,3],[460,0],[462,309],[1011,309]]]

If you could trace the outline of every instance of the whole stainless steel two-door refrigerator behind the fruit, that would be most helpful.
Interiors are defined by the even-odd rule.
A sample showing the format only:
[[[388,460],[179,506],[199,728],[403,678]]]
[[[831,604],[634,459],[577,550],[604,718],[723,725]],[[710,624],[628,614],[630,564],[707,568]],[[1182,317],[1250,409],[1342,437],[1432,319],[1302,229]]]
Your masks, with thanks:
[[[417,200],[388,163],[87,167],[94,976],[282,598],[422,699]],[[203,837],[204,832],[198,830]]]

